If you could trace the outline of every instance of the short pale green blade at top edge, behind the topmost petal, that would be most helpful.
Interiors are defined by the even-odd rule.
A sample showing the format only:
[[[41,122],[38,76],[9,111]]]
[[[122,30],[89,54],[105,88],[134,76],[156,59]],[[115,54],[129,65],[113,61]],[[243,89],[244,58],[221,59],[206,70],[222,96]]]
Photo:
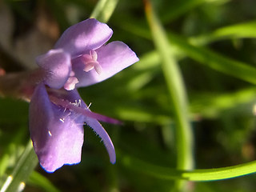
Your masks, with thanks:
[[[96,18],[100,22],[108,22],[117,4],[118,0],[99,0],[90,18]]]

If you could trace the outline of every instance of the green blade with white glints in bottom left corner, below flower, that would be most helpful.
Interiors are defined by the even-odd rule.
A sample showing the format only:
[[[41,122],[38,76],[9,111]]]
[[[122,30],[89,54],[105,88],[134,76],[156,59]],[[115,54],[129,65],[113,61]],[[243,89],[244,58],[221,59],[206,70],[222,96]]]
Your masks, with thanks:
[[[0,192],[22,191],[26,186],[26,180],[29,178],[35,166],[38,165],[38,158],[34,153],[32,143],[26,146],[17,165],[14,167],[12,174],[6,178]]]

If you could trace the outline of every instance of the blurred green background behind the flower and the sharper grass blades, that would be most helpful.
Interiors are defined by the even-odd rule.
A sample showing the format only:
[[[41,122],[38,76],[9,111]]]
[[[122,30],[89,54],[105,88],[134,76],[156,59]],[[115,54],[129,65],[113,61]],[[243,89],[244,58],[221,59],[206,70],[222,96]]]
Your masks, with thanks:
[[[36,67],[34,58],[54,46],[62,32],[90,17],[96,0],[0,2],[0,66],[6,72]],[[234,166],[255,159],[256,1],[154,0],[182,73],[194,134],[194,168]],[[118,118],[103,123],[117,150],[110,164],[105,147],[85,126],[82,162],[47,174],[40,166],[24,191],[171,191],[174,181],[129,165],[132,157],[175,168],[174,108],[146,21],[143,1],[118,1],[108,25],[110,41],[125,42],[140,62],[113,78],[79,89],[90,109]],[[0,186],[30,138],[29,103],[0,99]],[[127,161],[128,162],[127,162]],[[190,182],[191,191],[255,191],[256,176]]]

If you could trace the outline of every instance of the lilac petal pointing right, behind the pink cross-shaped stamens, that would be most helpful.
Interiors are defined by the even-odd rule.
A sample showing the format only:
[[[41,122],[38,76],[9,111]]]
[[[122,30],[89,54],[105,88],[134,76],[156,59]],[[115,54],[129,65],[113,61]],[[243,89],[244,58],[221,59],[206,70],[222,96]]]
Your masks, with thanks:
[[[79,81],[77,87],[102,82],[127,66],[134,64],[134,62],[138,62],[138,57],[134,51],[130,50],[129,46],[123,42],[110,42],[95,51],[98,54],[98,63],[102,67],[100,74],[96,70],[83,71],[84,64],[81,58],[72,60],[73,70]]]

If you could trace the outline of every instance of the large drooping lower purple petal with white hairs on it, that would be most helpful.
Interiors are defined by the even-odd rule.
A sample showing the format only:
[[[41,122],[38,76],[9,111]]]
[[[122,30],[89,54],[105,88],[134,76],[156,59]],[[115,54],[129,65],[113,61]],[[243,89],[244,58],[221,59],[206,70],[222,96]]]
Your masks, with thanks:
[[[50,102],[43,84],[36,87],[30,102],[30,135],[46,171],[81,161],[83,120],[79,114]]]

